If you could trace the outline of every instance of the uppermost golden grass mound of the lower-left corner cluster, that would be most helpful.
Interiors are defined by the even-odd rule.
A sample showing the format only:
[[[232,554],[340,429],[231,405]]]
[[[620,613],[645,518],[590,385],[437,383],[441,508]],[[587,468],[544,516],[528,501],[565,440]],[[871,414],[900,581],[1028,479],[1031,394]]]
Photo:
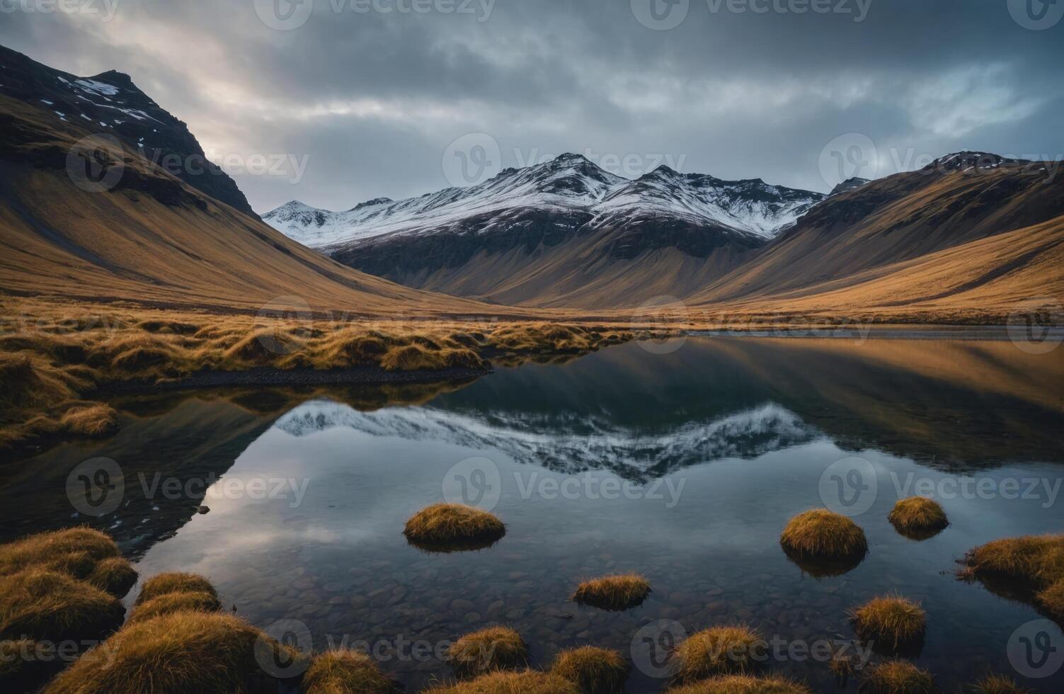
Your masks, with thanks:
[[[0,575],[28,568],[66,574],[115,597],[136,582],[136,571],[119,555],[115,541],[90,528],[43,532],[0,545]]]

